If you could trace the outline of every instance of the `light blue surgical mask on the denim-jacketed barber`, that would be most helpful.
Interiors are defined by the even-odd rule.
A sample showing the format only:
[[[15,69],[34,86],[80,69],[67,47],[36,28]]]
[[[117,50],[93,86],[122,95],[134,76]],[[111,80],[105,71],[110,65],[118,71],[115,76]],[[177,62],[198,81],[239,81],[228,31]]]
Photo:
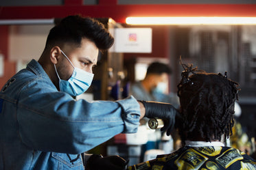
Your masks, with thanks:
[[[67,55],[65,55],[63,51],[61,51],[61,53],[68,59],[69,63],[71,63]],[[90,87],[94,74],[80,68],[75,68],[72,63],[71,65],[73,67],[73,74],[67,81],[60,79],[55,64],[54,68],[59,79],[60,91],[66,92],[71,96],[78,96]]]

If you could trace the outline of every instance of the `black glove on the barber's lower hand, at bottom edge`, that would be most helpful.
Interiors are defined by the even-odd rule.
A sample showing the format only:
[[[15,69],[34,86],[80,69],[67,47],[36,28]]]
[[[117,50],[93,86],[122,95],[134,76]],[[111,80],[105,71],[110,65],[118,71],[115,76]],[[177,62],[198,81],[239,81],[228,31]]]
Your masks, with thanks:
[[[86,170],[125,170],[129,161],[120,156],[106,156],[93,154],[88,162]]]

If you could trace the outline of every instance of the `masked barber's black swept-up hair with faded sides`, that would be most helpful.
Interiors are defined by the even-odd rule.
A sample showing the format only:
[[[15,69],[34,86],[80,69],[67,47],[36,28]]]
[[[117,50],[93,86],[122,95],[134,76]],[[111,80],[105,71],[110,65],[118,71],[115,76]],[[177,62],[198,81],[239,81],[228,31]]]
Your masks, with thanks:
[[[80,47],[82,38],[95,43],[100,51],[105,51],[114,43],[113,36],[99,21],[82,16],[67,16],[49,31],[45,48],[71,43]]]

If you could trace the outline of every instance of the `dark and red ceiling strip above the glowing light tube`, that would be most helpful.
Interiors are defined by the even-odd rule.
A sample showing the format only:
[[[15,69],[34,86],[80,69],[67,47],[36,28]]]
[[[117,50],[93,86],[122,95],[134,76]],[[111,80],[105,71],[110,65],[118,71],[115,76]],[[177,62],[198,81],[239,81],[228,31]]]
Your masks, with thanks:
[[[255,0],[216,0],[202,3],[202,0],[187,3],[188,0],[159,0],[158,4],[142,0],[48,0],[28,1],[14,0],[12,4],[4,5],[9,0],[1,1],[0,20],[10,19],[42,19],[63,18],[71,14],[82,14],[95,18],[113,18],[117,23],[125,23],[128,16],[244,16],[256,17]],[[17,2],[23,3],[17,3]],[[15,5],[15,2],[17,5]],[[86,2],[86,3],[85,3]],[[128,2],[137,2],[130,4]],[[155,2],[155,1],[154,1]],[[175,3],[176,2],[176,3]],[[177,3],[179,2],[179,3]],[[207,2],[207,4],[206,4]],[[231,3],[233,2],[233,3]],[[241,4],[243,2],[243,4]],[[138,4],[140,3],[140,4]],[[144,0],[145,3],[145,0]],[[151,3],[151,4],[150,4]]]

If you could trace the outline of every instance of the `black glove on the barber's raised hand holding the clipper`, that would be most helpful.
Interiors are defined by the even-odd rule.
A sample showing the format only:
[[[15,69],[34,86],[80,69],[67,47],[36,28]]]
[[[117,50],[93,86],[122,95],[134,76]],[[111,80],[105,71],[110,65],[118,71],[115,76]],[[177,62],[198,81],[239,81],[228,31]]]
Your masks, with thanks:
[[[139,102],[142,102],[145,107],[145,117],[163,119],[164,126],[161,131],[166,130],[166,134],[169,136],[174,128],[176,113],[178,113],[172,104],[144,100],[139,100]]]

